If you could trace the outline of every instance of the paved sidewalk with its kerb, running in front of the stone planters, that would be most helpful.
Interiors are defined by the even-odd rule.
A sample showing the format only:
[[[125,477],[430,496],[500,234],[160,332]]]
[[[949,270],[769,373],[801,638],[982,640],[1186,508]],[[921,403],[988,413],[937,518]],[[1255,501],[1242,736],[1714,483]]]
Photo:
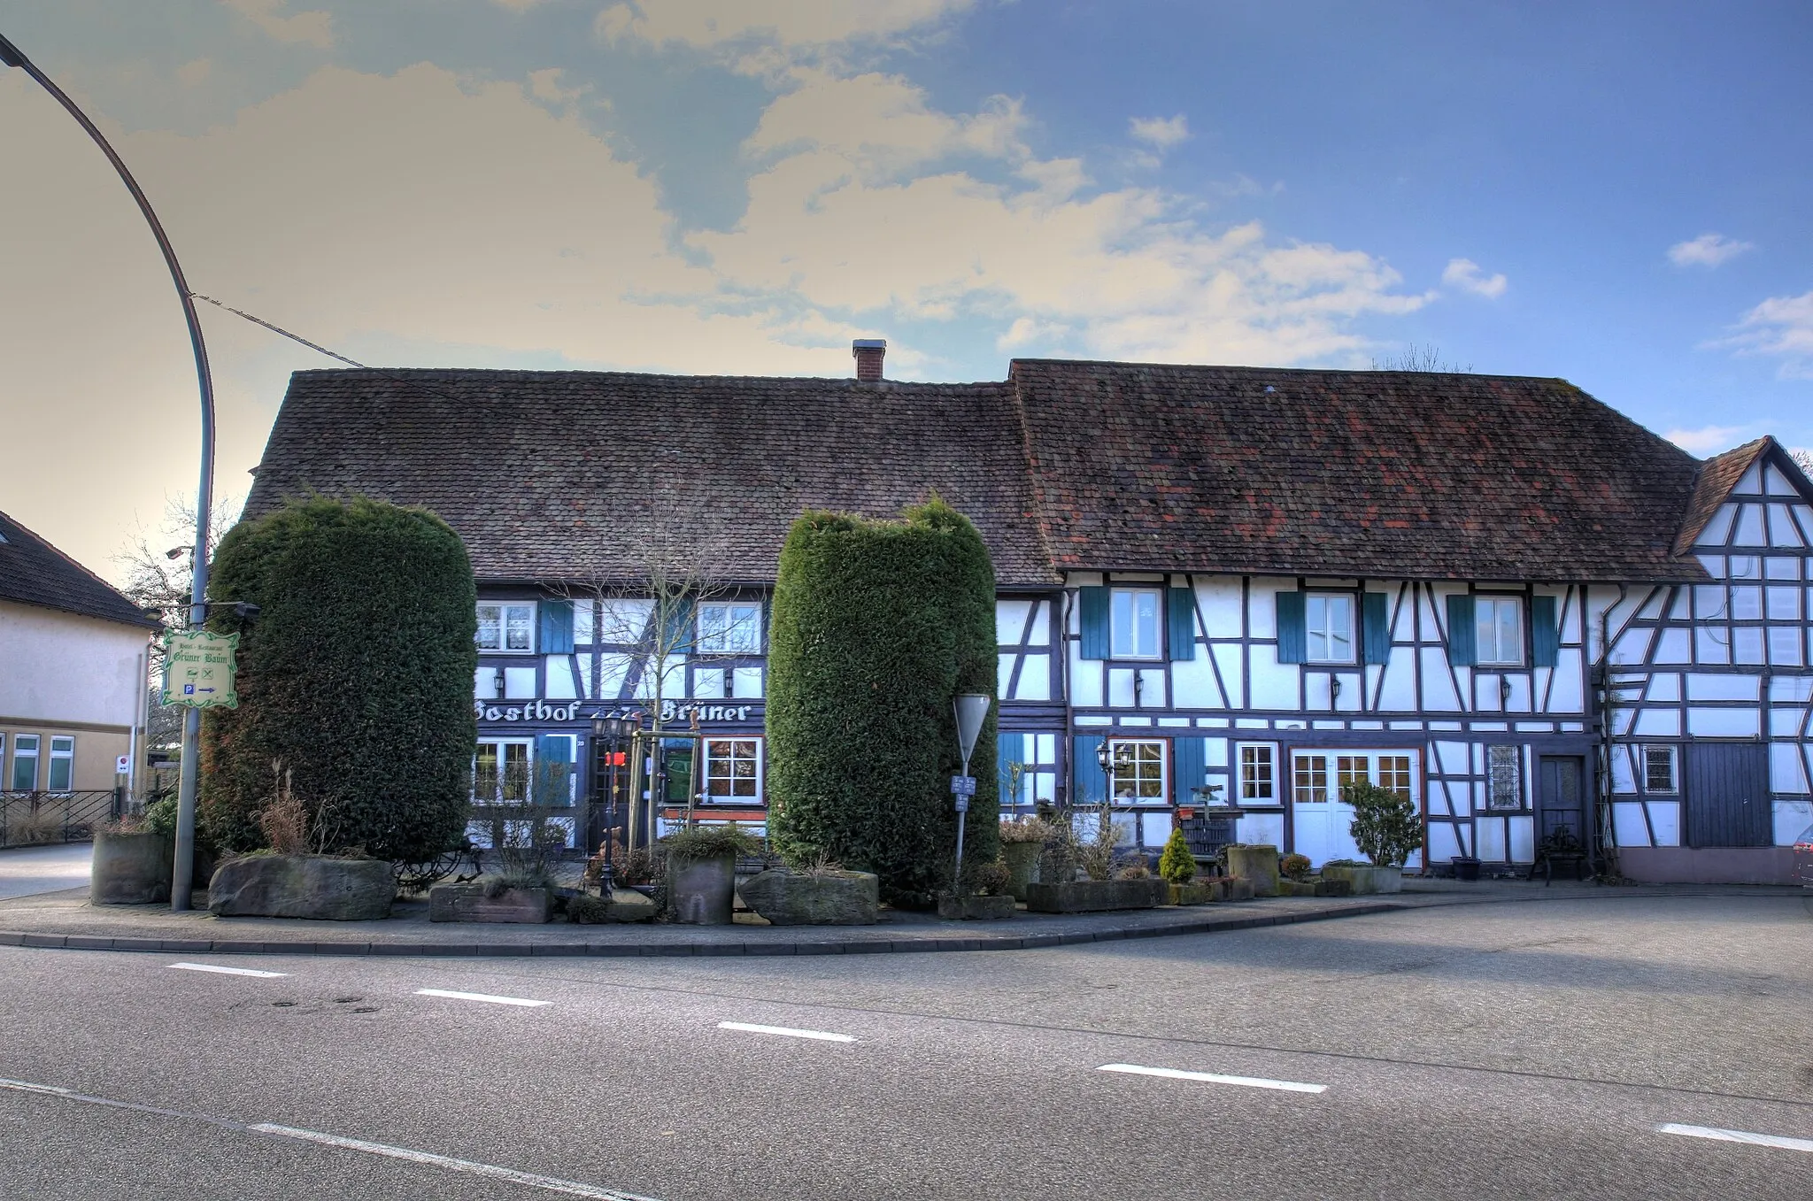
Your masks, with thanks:
[[[1120,913],[1042,915],[1021,911],[1006,922],[943,922],[925,913],[883,911],[877,926],[493,926],[428,920],[424,900],[397,902],[381,922],[218,918],[205,909],[87,904],[87,889],[0,900],[0,946],[91,951],[176,951],[181,955],[877,955],[912,951],[1017,951],[1077,942],[1200,935],[1255,926],[1320,922],[1409,908],[1579,898],[1797,895],[1769,888],[1597,888],[1523,882],[1456,884],[1407,880],[1392,897],[1278,897],[1193,908]],[[203,895],[198,893],[198,902]]]

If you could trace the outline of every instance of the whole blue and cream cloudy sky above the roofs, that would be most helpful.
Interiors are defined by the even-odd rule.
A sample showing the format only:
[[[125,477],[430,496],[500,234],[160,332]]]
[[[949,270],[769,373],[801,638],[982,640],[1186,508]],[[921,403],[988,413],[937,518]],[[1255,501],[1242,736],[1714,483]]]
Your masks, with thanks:
[[[1561,375],[1813,444],[1804,4],[63,0],[0,13],[192,284],[412,366]],[[0,507],[107,572],[192,489],[169,284],[0,72]],[[328,360],[208,315],[219,482]],[[71,487],[76,478],[107,487]]]

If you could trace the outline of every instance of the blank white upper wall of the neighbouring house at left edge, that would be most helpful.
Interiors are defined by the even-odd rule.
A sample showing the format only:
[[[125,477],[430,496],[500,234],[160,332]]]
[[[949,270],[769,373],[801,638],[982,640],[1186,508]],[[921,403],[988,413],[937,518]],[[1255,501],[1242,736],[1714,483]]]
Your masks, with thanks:
[[[0,601],[0,717],[131,726],[149,632]]]

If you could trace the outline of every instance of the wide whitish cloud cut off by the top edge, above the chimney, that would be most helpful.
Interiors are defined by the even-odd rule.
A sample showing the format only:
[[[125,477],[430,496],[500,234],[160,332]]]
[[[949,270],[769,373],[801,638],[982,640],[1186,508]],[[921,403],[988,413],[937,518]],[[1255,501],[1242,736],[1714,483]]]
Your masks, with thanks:
[[[638,0],[598,13],[606,42],[633,36],[656,45],[716,49],[749,42],[823,47],[925,29],[974,0]]]

